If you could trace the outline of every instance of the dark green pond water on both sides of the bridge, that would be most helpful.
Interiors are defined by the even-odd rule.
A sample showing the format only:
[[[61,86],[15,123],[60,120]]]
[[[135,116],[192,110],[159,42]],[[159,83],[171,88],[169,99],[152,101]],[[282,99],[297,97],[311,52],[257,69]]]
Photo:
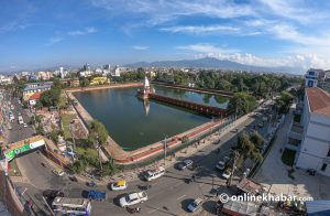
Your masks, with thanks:
[[[205,101],[204,94],[155,87],[156,93],[197,102]],[[136,87],[75,93],[85,109],[101,121],[111,138],[124,149],[133,150],[172,137],[205,122],[210,118],[189,110],[136,97]],[[208,97],[210,105],[224,106]],[[215,102],[215,104],[211,104]],[[226,102],[226,101],[224,101]]]

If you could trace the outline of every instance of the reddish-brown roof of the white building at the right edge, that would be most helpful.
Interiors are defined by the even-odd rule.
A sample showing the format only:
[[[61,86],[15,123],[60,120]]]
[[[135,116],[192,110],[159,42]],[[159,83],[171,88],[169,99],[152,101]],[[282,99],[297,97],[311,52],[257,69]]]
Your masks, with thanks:
[[[330,94],[320,88],[306,88],[310,111],[330,116]]]

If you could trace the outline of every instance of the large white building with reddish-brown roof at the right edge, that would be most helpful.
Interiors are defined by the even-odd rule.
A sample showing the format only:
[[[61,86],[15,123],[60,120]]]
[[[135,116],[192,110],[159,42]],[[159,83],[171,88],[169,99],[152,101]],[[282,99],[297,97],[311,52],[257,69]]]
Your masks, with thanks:
[[[297,145],[296,166],[330,176],[329,93],[317,87],[306,88],[300,125],[304,129],[300,133],[301,142]]]

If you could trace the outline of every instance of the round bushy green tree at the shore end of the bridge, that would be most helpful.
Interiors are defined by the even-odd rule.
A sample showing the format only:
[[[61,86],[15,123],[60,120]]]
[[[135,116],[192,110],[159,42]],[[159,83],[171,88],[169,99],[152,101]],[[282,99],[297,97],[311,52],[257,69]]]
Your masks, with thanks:
[[[248,93],[235,93],[229,101],[229,110],[237,111],[238,116],[245,115],[257,107],[254,96]]]

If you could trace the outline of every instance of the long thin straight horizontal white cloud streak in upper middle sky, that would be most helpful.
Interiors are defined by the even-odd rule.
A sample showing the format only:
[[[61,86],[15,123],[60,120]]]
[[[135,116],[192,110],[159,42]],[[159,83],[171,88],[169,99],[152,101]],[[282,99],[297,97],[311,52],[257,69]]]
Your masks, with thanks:
[[[193,33],[193,34],[206,34],[206,33],[233,33],[239,32],[239,28],[226,26],[226,25],[177,25],[169,28],[161,28],[161,31],[172,33]]]

